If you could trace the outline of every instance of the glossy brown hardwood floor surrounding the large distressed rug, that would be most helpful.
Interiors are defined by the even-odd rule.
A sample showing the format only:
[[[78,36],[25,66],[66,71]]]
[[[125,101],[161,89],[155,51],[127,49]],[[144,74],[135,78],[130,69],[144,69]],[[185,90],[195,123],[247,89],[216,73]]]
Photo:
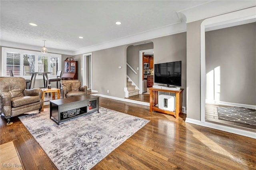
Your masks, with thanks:
[[[185,123],[185,114],[176,120],[150,113],[144,105],[100,97],[100,107],[150,122],[92,169],[256,169],[256,139]],[[20,120],[12,121],[0,119],[0,144],[13,140],[26,170],[57,169]]]

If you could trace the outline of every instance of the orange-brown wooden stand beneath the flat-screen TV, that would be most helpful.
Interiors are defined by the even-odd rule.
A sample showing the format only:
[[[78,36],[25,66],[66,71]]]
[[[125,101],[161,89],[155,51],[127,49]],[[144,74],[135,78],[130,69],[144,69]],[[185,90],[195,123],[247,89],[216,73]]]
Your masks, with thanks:
[[[149,91],[150,91],[150,98],[149,98],[150,112],[152,113],[152,111],[158,111],[158,112],[174,115],[176,119],[179,119],[179,114],[182,113],[182,91],[183,90],[184,89],[166,90],[166,89],[157,89],[157,88],[150,87],[149,88]],[[163,92],[175,93],[176,94],[176,100],[175,100],[176,101],[176,103],[175,103],[176,109],[175,109],[175,111],[167,111],[167,110],[159,109],[156,106],[158,104],[158,91],[163,91]]]

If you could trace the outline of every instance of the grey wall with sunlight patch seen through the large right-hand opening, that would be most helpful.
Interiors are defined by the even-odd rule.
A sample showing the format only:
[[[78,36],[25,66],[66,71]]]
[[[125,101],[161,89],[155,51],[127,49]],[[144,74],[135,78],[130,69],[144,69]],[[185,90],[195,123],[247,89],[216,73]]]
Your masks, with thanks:
[[[206,100],[256,105],[255,30],[254,22],[206,32]]]

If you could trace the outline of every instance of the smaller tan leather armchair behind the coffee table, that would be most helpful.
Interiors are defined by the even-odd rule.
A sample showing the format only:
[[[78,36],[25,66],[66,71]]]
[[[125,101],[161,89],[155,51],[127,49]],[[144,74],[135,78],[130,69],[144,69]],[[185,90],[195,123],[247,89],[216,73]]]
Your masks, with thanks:
[[[81,86],[79,80],[61,80],[63,98],[87,95],[87,86]]]

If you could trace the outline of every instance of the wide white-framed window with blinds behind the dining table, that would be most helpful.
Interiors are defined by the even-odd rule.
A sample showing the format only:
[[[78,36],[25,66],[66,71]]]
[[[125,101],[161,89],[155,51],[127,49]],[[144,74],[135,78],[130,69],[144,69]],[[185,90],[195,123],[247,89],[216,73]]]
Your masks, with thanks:
[[[36,51],[2,47],[2,76],[10,76],[9,69],[12,69],[14,76],[24,78],[31,77],[27,72],[51,72],[49,77],[55,77],[57,71],[61,70],[60,63],[60,54],[42,54]],[[36,78],[40,79],[39,76]]]

